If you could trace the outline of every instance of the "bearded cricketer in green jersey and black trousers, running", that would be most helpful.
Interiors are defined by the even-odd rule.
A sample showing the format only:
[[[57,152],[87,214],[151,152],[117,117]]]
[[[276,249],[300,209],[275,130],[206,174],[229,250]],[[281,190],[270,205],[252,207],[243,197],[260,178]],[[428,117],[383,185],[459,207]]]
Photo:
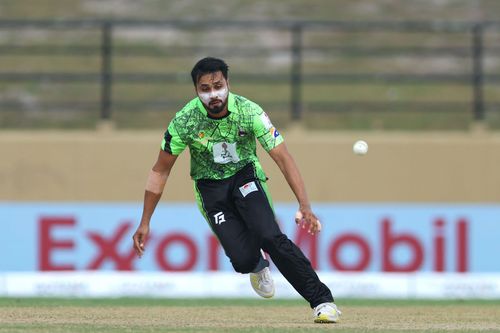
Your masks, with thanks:
[[[229,92],[228,66],[204,58],[191,71],[197,97],[170,122],[150,171],[142,218],[133,236],[139,256],[154,209],[177,156],[189,147],[198,207],[235,271],[249,273],[255,292],[274,295],[267,252],[276,267],[314,309],[315,322],[335,323],[341,312],[302,251],[276,223],[256,139],[276,162],[299,202],[296,223],[314,234],[321,224],[311,210],[304,182],[283,137],[262,109]]]

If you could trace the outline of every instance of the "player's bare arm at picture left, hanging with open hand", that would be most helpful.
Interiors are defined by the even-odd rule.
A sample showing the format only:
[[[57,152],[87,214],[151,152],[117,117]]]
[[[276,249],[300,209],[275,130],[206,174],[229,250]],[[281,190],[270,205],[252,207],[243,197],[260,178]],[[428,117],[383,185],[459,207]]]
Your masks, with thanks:
[[[149,234],[149,223],[151,216],[160,201],[165,183],[170,174],[170,170],[174,166],[177,155],[169,154],[163,150],[158,154],[158,159],[151,169],[144,192],[144,206],[142,209],[142,217],[137,230],[132,237],[134,240],[134,249],[139,257],[144,253],[144,244]]]

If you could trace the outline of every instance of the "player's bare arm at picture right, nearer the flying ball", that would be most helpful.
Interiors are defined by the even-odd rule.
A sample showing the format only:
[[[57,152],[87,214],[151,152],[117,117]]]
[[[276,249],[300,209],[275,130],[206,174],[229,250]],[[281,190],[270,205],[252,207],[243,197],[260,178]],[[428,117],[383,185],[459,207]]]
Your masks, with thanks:
[[[288,185],[292,189],[297,201],[299,202],[299,211],[295,216],[297,224],[302,223],[302,227],[309,226],[309,233],[315,234],[321,230],[321,224],[312,212],[311,204],[307,197],[304,181],[292,155],[284,142],[269,151],[269,155],[276,162],[281,172],[285,176]]]

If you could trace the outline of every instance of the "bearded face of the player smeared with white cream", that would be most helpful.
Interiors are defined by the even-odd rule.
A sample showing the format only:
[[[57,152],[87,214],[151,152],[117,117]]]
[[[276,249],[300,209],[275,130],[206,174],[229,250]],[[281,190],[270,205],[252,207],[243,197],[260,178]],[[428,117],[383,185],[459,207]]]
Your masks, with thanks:
[[[229,84],[222,72],[202,75],[196,84],[196,93],[211,114],[226,111]]]

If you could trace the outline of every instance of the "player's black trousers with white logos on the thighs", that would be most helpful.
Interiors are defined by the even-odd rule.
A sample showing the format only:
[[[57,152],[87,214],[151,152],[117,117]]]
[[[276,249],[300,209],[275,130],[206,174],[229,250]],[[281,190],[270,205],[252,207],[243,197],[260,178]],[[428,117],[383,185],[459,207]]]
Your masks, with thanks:
[[[262,249],[311,307],[333,301],[310,261],[279,229],[253,164],[224,180],[197,180],[195,189],[199,207],[235,271],[252,272]]]

